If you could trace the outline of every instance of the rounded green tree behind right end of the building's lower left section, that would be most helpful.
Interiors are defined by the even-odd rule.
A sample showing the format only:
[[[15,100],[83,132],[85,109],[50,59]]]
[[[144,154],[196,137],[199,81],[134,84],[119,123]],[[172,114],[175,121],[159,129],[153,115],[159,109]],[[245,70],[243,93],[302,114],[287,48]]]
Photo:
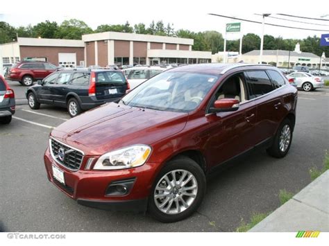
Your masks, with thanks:
[[[65,20],[56,31],[56,37],[61,39],[81,39],[84,34],[92,33],[92,28],[78,19]]]

